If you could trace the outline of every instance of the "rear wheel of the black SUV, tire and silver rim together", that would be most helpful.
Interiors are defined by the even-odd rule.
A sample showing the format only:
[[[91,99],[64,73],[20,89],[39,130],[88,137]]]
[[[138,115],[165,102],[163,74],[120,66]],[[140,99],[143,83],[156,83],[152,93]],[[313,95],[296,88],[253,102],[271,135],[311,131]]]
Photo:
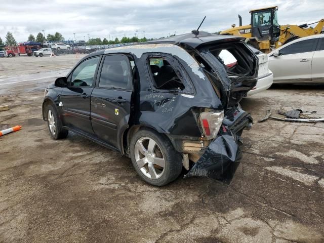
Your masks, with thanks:
[[[153,130],[139,130],[132,137],[130,155],[137,174],[154,186],[169,184],[182,170],[180,153],[165,135]]]

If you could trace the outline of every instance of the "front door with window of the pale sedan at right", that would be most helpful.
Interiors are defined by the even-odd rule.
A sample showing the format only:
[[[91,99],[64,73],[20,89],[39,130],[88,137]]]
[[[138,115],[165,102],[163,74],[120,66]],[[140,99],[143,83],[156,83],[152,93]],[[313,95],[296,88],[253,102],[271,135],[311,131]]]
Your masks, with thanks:
[[[269,69],[273,72],[273,82],[310,82],[312,57],[318,38],[288,44],[280,48],[279,56],[269,57]]]

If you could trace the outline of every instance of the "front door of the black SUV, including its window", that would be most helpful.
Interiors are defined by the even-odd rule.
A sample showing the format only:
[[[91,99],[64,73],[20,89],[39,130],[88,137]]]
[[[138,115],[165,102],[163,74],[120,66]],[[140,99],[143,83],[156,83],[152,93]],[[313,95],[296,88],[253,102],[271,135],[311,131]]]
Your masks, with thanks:
[[[90,121],[90,96],[101,56],[81,62],[69,75],[70,82],[63,88],[60,106],[62,106],[63,125],[71,129],[93,134]]]

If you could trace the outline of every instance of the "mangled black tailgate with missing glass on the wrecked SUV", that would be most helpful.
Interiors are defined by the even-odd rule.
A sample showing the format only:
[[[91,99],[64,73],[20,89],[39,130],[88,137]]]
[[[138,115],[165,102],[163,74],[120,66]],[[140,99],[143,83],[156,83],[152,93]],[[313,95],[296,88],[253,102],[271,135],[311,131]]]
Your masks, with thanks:
[[[197,48],[195,59],[218,89],[224,108],[233,107],[257,84],[258,57],[238,38]]]

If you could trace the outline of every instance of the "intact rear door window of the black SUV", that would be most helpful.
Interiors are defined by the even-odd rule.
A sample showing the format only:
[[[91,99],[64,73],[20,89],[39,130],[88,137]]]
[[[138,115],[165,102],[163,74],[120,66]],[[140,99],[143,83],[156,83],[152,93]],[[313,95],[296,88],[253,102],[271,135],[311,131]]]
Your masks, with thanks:
[[[123,55],[105,56],[99,79],[99,87],[111,89],[130,89],[132,72],[130,61]]]

